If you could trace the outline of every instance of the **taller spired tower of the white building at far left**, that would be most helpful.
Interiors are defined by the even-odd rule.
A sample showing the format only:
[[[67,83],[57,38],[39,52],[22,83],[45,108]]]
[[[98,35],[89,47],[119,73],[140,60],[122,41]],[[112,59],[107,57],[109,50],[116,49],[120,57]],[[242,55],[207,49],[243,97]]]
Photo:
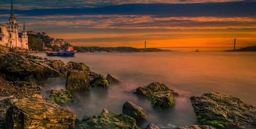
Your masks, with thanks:
[[[21,47],[20,41],[18,40],[18,24],[13,11],[13,5],[11,1],[11,13],[9,17],[9,23],[7,23],[9,31],[9,47]]]

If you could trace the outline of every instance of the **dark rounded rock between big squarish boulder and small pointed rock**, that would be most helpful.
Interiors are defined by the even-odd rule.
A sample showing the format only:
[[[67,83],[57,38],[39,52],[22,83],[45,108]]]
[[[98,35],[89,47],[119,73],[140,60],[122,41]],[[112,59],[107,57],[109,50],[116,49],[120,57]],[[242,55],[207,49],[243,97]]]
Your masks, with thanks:
[[[91,87],[109,88],[109,82],[102,75],[99,75],[91,81]]]

